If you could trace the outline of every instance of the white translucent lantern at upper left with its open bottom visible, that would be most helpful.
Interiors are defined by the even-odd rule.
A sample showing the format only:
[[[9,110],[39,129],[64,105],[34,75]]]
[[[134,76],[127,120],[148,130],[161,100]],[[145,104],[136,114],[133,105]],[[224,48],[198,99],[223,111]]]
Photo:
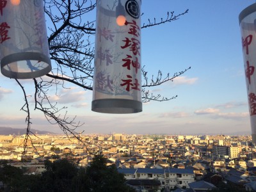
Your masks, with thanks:
[[[30,79],[51,71],[43,0],[3,0],[0,8],[1,72]]]

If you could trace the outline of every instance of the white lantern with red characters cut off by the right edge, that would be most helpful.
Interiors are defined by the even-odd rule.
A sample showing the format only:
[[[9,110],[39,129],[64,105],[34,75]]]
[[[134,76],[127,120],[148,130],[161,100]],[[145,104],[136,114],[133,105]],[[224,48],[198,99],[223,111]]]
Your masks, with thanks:
[[[239,14],[252,141],[256,144],[256,3]]]

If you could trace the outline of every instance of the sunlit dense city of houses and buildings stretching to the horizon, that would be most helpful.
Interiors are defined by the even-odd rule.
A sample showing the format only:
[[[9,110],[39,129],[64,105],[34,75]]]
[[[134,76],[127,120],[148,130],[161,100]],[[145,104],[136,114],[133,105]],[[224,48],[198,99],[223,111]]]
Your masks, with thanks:
[[[86,167],[101,154],[138,191],[207,191],[222,182],[241,191],[256,189],[252,136],[38,134],[24,149],[25,136],[1,135],[0,160],[26,168],[28,175],[42,174],[45,160],[68,159]]]

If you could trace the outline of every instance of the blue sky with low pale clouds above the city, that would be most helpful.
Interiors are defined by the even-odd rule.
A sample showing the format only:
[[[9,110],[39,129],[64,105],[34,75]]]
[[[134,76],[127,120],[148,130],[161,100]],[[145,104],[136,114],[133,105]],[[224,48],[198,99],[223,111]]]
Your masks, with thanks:
[[[161,3],[160,3],[161,2]],[[52,95],[67,106],[67,115],[84,123],[77,132],[124,134],[250,134],[250,116],[244,76],[239,13],[249,0],[144,0],[141,23],[179,14],[179,20],[141,31],[141,62],[150,75],[186,73],[151,91],[167,102],[143,104],[141,113],[113,115],[96,113],[92,92],[72,84]],[[25,88],[32,81],[21,81]],[[25,128],[22,90],[0,74],[0,127]],[[33,92],[31,92],[33,95]],[[28,97],[31,99],[31,97]],[[33,106],[31,106],[33,109]],[[65,110],[66,111],[66,110]],[[65,111],[63,111],[65,113]],[[31,111],[31,128],[61,133],[44,115]]]

